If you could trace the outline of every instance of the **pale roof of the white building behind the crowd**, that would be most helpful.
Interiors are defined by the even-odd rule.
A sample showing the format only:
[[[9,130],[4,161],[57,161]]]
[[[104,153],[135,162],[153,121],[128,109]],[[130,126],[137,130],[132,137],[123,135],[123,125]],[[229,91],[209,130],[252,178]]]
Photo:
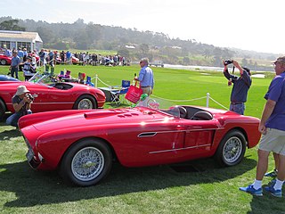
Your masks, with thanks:
[[[40,42],[43,40],[37,32],[0,30],[0,40],[17,42]]]

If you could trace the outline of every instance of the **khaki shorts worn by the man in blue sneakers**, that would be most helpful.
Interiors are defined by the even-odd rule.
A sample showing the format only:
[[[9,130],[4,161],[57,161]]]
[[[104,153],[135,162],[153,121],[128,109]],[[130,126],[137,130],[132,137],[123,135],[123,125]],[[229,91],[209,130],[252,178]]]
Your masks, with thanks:
[[[266,135],[261,136],[259,149],[285,155],[285,131],[266,128]]]

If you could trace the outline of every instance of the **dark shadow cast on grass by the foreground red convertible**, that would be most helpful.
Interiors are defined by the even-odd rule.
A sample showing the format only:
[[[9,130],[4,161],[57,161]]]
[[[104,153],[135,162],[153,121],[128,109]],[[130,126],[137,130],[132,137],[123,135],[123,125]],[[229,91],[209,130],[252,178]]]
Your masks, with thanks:
[[[175,164],[175,167],[179,165]],[[238,166],[219,168],[212,159],[191,161],[195,172],[177,172],[171,165],[125,168],[113,165],[109,177],[102,183],[89,187],[65,185],[55,171],[34,171],[26,161],[0,165],[0,191],[14,193],[17,199],[6,202],[5,207],[31,207],[38,204],[77,202],[79,200],[115,196],[188,186],[223,182],[240,176],[256,167],[256,161],[245,158]]]

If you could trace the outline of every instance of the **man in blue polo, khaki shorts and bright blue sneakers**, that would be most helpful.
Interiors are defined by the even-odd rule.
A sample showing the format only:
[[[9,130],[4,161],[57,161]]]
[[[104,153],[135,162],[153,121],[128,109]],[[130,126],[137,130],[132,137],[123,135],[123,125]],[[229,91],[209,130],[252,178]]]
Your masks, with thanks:
[[[276,76],[265,94],[265,108],[259,123],[262,137],[258,148],[256,179],[252,185],[240,187],[241,191],[263,195],[262,180],[268,167],[268,156],[275,152],[278,158],[277,178],[265,191],[281,197],[285,179],[285,56],[279,57],[274,64]]]

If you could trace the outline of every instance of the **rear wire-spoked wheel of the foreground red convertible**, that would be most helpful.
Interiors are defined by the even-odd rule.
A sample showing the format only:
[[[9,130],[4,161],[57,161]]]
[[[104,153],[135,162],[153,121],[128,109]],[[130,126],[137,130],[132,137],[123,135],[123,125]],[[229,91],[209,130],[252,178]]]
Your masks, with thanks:
[[[232,130],[220,142],[215,159],[221,166],[230,167],[240,163],[245,152],[245,136],[238,130]]]

